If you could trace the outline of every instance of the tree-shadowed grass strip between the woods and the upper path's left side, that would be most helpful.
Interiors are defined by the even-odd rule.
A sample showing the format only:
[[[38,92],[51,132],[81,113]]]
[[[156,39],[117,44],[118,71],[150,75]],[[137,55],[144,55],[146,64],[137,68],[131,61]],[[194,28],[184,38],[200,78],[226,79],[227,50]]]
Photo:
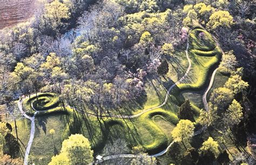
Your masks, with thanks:
[[[146,95],[137,101],[123,104],[119,111],[114,111],[114,114],[122,113],[124,115],[134,115],[144,111],[145,109],[157,107],[164,102],[166,92],[169,90],[178,79],[183,77],[187,70],[188,61],[186,58],[185,50],[176,50],[173,53],[173,57],[167,57],[167,63],[169,64],[169,72],[164,76],[148,76],[145,81],[145,93]],[[180,102],[177,99],[169,95],[167,101],[167,109],[171,109],[172,112],[178,112],[178,106]]]

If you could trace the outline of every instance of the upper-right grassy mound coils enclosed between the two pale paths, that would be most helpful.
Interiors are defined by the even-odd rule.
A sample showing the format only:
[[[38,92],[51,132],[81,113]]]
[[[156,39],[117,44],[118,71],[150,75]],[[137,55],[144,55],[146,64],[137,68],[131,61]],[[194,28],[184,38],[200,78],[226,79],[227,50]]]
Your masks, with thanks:
[[[203,33],[203,37],[199,34]],[[194,29],[190,33],[191,73],[185,83],[179,84],[181,91],[199,91],[205,87],[210,72],[219,64],[221,51],[210,33],[202,29]]]

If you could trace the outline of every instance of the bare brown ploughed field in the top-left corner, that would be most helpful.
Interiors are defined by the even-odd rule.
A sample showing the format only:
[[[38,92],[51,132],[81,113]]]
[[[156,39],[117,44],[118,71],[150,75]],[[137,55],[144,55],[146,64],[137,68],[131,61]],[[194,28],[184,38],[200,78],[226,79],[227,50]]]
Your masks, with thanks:
[[[22,22],[35,12],[36,0],[0,0],[0,29]]]

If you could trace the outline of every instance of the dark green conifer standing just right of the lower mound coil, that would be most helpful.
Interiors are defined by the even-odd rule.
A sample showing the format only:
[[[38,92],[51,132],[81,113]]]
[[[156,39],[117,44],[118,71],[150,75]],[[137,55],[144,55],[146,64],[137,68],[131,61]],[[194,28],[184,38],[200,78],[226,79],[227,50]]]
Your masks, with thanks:
[[[194,116],[194,114],[193,114],[191,106],[190,106],[190,101],[186,100],[179,108],[178,118],[194,121],[193,116]]]

